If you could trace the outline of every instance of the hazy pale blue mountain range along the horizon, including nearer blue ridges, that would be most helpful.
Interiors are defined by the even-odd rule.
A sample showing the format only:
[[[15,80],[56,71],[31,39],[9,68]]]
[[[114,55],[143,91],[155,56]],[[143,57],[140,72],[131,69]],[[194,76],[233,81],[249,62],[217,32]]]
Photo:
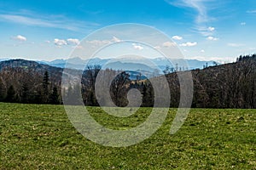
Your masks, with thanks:
[[[4,63],[9,65],[8,61],[10,59],[0,59],[1,61],[5,61]],[[18,59],[14,63],[17,65],[17,61],[23,63],[24,59]],[[2,63],[2,65],[4,65]],[[12,63],[12,62],[11,62]],[[12,63],[14,66],[15,64]],[[26,62],[25,62],[26,63]],[[113,69],[116,71],[126,71],[130,74],[131,79],[136,79],[137,77],[141,77],[142,79],[146,79],[146,77],[156,77],[163,74],[163,71],[166,69],[166,65],[174,71],[184,71],[184,70],[195,70],[195,69],[203,69],[204,65],[212,66],[216,65],[215,61],[201,61],[197,59],[172,59],[172,63],[166,58],[155,58],[155,59],[143,59],[143,58],[134,58],[134,59],[80,59],[79,57],[73,59],[55,59],[52,61],[30,61],[30,65],[37,65],[38,67],[58,67],[58,68],[70,68],[75,70],[84,70],[86,65],[101,65],[102,69]],[[172,72],[171,71],[171,72]]]

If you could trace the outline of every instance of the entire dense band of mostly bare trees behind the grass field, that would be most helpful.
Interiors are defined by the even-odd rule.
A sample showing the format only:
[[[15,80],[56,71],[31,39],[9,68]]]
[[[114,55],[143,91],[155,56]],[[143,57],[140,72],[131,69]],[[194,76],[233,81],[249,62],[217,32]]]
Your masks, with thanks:
[[[96,99],[96,77],[100,65],[90,65],[84,72],[81,84],[71,84],[61,91],[63,69],[41,65],[34,61],[12,59],[0,62],[0,101],[32,104],[63,104],[69,94],[82,92],[84,105],[99,105]],[[76,71],[74,71],[75,73]],[[132,79],[125,71],[106,69],[106,75],[118,75],[111,82],[110,94],[115,105],[128,104],[127,93],[137,88],[142,94],[142,106],[154,105],[154,88],[150,79]],[[240,56],[236,62],[206,66],[193,70],[194,98],[197,108],[256,108],[256,54]],[[171,107],[179,104],[180,87],[177,72],[165,75],[171,92]],[[80,88],[81,87],[81,88]],[[66,90],[66,93],[63,93]],[[62,92],[62,93],[61,93]],[[73,105],[77,101],[73,100]]]

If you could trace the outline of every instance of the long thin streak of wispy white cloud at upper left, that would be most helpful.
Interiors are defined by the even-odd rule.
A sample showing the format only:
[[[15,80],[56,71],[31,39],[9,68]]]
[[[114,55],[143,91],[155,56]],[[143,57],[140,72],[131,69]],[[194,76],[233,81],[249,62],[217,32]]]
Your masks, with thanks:
[[[40,14],[32,14],[32,12],[26,12],[22,14],[0,14],[0,20],[26,26],[59,28],[69,31],[79,31],[84,29],[86,26],[98,26],[96,23],[85,23],[77,20],[68,20],[65,16],[45,16]]]

